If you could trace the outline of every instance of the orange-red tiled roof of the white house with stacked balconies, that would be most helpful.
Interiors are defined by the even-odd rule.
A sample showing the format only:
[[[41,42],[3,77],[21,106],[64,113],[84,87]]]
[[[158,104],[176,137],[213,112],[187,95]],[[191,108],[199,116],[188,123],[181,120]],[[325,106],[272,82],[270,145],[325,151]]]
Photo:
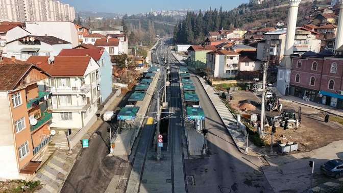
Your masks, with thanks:
[[[31,56],[27,62],[33,63],[54,77],[82,77],[90,62],[90,56],[55,56],[48,64],[48,56]]]

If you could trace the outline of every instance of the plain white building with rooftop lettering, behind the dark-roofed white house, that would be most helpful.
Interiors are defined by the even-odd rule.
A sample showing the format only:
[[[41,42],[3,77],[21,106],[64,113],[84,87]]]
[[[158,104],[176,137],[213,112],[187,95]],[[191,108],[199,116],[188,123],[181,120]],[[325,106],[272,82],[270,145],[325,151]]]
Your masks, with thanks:
[[[37,36],[55,36],[71,43],[72,47],[79,45],[78,30],[70,21],[28,21],[26,30]]]

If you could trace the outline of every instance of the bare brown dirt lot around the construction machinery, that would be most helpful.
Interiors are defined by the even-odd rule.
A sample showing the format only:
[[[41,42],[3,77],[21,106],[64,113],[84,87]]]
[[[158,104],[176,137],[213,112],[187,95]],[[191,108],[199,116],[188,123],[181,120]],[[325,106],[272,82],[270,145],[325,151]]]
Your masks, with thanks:
[[[230,105],[246,114],[258,114],[261,113],[261,98],[260,95],[255,95],[251,91],[234,91],[233,100],[230,101]],[[239,102],[247,100],[251,104],[257,107],[254,111],[247,110],[242,112],[238,108]],[[283,107],[282,109],[294,109],[298,115],[298,107],[301,106],[301,124],[298,129],[294,130],[283,130],[283,128],[277,128],[274,133],[274,143],[285,143],[285,142],[297,142],[300,151],[311,151],[317,148],[326,146],[327,144],[343,139],[343,121],[340,117],[330,116],[329,123],[324,122],[324,116],[326,112],[317,110],[308,106],[300,105],[288,100],[280,99]],[[266,112],[266,116],[270,117],[278,115],[280,112],[271,111]],[[266,142],[269,144],[271,141],[271,128],[266,129]]]

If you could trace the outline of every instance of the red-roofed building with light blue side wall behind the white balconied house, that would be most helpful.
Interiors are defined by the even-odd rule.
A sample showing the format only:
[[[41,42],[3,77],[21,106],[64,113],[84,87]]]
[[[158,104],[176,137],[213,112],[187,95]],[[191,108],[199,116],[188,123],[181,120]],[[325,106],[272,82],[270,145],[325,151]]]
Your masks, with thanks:
[[[105,49],[63,49],[58,56],[90,56],[100,66],[98,86],[100,90],[99,104],[112,93],[112,62]]]

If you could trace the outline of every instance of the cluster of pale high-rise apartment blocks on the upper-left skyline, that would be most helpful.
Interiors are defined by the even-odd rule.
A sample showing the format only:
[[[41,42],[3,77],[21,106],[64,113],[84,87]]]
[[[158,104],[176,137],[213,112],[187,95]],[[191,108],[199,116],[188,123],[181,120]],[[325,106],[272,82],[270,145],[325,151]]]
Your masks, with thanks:
[[[75,8],[53,0],[0,0],[0,20],[74,21]]]

